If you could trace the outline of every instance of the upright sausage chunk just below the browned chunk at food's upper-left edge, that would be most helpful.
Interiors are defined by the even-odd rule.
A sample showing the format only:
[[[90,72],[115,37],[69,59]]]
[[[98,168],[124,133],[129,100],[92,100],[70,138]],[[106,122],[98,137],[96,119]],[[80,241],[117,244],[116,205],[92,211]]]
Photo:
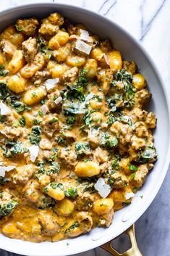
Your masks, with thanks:
[[[32,62],[38,51],[37,41],[35,38],[28,38],[22,43],[22,51],[27,62]]]

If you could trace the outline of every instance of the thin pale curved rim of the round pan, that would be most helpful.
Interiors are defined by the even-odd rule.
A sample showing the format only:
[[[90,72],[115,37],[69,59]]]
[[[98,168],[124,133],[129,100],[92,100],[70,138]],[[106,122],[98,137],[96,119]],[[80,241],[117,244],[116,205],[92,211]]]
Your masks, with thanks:
[[[71,8],[71,9],[76,9],[75,11],[81,11],[81,12],[85,12],[87,15],[90,13],[91,15],[97,16],[98,18],[100,18],[101,20],[103,20],[103,22],[108,22],[110,23],[110,25],[114,25],[119,31],[120,33],[125,34],[127,37],[130,38],[130,40],[132,41],[133,44],[137,45],[137,47],[140,49],[140,51],[142,52],[142,54],[145,55],[145,57],[148,59],[148,62],[150,63],[150,66],[153,67],[153,70],[156,73],[156,78],[158,79],[159,83],[161,84],[161,87],[163,88],[163,93],[166,99],[166,105],[168,107],[168,126],[170,128],[170,102],[169,102],[169,94],[168,94],[168,89],[165,86],[165,83],[163,82],[163,79],[161,78],[161,73],[158,70],[158,67],[156,66],[155,62],[153,62],[153,58],[150,57],[150,54],[148,54],[148,51],[144,48],[144,46],[142,46],[142,44],[140,43],[140,41],[137,41],[137,39],[132,36],[131,33],[129,33],[126,29],[122,28],[121,25],[117,24],[116,22],[114,22],[113,20],[111,20],[110,18],[103,16],[101,14],[99,14],[98,12],[94,12],[89,10],[88,8],[85,7],[79,7],[75,4],[62,4],[62,3],[57,3],[57,2],[48,2],[48,1],[43,1],[43,2],[35,2],[35,3],[30,3],[30,4],[19,4],[15,7],[11,7],[11,8],[7,8],[4,9],[3,11],[0,11],[0,17],[1,15],[5,15],[5,14],[10,14],[11,12],[17,11],[20,12],[20,9],[27,9],[27,8],[33,8],[33,7],[64,7],[64,8]],[[124,231],[127,230],[127,228],[129,228],[129,226],[131,226],[133,223],[135,223],[140,217],[141,215],[143,215],[143,213],[145,212],[145,210],[148,209],[148,207],[150,206],[150,204],[153,202],[153,199],[155,199],[156,195],[158,194],[159,189],[161,188],[161,185],[163,183],[164,178],[166,177],[166,173],[168,171],[169,168],[169,158],[170,158],[170,139],[169,139],[169,144],[168,144],[168,150],[166,152],[166,161],[163,164],[163,169],[162,169],[162,174],[160,176],[160,179],[158,181],[158,183],[156,184],[156,189],[154,189],[154,193],[152,193],[150,195],[150,200],[147,201],[147,203],[145,203],[145,207],[143,207],[143,210],[140,210],[140,213],[137,212],[137,214],[135,215],[135,218],[133,218],[133,220],[129,220],[128,225],[124,226],[124,228],[122,229],[122,233]],[[121,233],[119,233],[121,234]],[[118,235],[119,235],[118,234]],[[109,237],[103,237],[100,241],[95,241],[95,243],[92,244],[88,244],[88,248],[87,250],[90,249],[94,249],[95,247],[100,247],[101,244],[105,244],[108,241],[111,241],[111,239],[114,239],[115,237],[113,236],[109,236]],[[20,242],[20,240],[18,240]],[[27,242],[27,241],[26,241]],[[33,243],[33,242],[30,242]],[[34,243],[33,243],[34,244]],[[8,248],[7,246],[1,244],[0,245],[1,249],[10,251],[10,252],[14,252],[20,255],[29,255],[29,256],[40,256],[37,253],[29,253],[29,254],[25,254],[25,252],[23,252],[23,249],[20,249],[20,247],[17,248]],[[75,248],[75,252],[71,252],[71,253],[63,253],[61,252],[61,256],[65,256],[65,255],[73,255],[73,254],[77,254],[80,252],[85,252],[84,249],[81,249],[79,247]],[[43,255],[44,256],[44,255]],[[54,253],[49,254],[48,256],[55,256]]]

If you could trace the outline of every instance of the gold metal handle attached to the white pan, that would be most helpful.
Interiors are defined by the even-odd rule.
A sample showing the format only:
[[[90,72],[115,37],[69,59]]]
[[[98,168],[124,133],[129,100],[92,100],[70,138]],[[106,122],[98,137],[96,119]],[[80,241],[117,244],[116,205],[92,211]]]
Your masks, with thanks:
[[[124,232],[124,234],[129,235],[129,239],[132,244],[132,247],[128,249],[127,252],[124,252],[122,254],[117,252],[116,249],[112,247],[111,241],[101,245],[101,248],[105,249],[107,252],[110,252],[111,255],[114,255],[114,256],[143,256],[140,252],[140,249],[137,247],[137,241],[135,237],[135,225],[133,224],[130,228],[128,228],[127,231]]]

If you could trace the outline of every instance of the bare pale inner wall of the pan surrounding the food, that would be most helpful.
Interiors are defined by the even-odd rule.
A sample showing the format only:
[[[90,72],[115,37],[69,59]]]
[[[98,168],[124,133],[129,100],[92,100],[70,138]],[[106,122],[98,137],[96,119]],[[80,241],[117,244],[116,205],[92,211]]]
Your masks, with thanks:
[[[134,223],[147,209],[150,202],[156,196],[169,164],[169,106],[166,101],[166,93],[158,78],[158,73],[148,55],[141,49],[137,42],[116,24],[93,12],[78,7],[69,7],[63,4],[32,4],[25,7],[17,7],[1,13],[0,30],[12,24],[18,17],[44,17],[51,12],[61,12],[73,22],[82,23],[94,34],[101,38],[109,38],[114,48],[122,52],[127,60],[134,60],[140,72],[148,82],[148,88],[153,94],[149,104],[149,110],[156,113],[158,118],[155,131],[155,144],[158,152],[158,161],[150,172],[145,185],[140,190],[143,198],[135,197],[132,205],[116,212],[113,223],[109,228],[95,228],[90,234],[79,236],[75,239],[58,241],[56,243],[43,242],[33,244],[27,241],[9,239],[0,234],[0,247],[22,255],[72,255],[83,252],[113,239]],[[127,222],[122,222],[122,217],[130,213]]]

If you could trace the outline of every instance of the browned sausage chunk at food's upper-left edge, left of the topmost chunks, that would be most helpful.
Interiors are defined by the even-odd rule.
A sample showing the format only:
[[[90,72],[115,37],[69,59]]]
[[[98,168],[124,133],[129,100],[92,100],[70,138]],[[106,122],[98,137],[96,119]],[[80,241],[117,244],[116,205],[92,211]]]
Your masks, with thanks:
[[[17,30],[22,31],[26,36],[33,36],[38,28],[38,20],[35,18],[17,20]]]

